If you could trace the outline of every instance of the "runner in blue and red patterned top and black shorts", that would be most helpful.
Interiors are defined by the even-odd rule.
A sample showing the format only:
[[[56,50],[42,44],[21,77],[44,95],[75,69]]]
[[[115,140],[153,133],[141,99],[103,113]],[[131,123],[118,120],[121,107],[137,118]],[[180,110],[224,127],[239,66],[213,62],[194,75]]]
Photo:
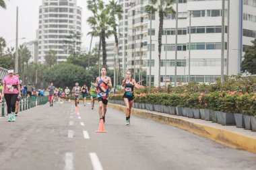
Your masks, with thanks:
[[[112,88],[111,78],[106,77],[106,68],[102,67],[100,69],[101,77],[96,78],[96,83],[94,84],[97,87],[98,95],[98,114],[100,119],[103,119],[105,123],[106,117],[106,105],[108,104],[108,91]],[[102,114],[102,105],[103,105],[103,114]]]

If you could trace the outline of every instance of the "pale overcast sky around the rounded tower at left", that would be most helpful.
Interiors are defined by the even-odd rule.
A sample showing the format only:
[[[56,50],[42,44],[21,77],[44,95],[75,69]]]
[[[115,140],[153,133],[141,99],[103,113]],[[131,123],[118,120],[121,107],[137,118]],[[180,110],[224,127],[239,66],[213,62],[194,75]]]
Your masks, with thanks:
[[[105,0],[108,1],[108,0]],[[39,6],[42,5],[42,0],[5,0],[7,9],[0,9],[0,36],[5,38],[7,46],[15,46],[15,22],[16,22],[16,7],[19,7],[19,44],[29,42],[36,39],[36,29],[38,29]],[[90,38],[86,34],[90,31],[90,26],[87,25],[86,19],[91,13],[86,7],[86,0],[77,0],[77,4],[82,7],[82,46],[90,46]],[[12,41],[13,40],[13,41]],[[98,38],[94,38],[94,42]]]

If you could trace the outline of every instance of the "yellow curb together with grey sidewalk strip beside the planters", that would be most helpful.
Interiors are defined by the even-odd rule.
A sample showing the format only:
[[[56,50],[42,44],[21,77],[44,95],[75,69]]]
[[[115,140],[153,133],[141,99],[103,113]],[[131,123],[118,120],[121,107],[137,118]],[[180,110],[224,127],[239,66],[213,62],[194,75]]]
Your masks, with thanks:
[[[125,112],[124,105],[109,104],[110,107]],[[236,126],[222,126],[221,124],[201,119],[187,118],[183,116],[152,112],[149,110],[132,109],[132,114],[141,118],[147,118],[176,126],[178,128],[205,136],[226,146],[243,149],[256,153],[256,132],[236,128]]]

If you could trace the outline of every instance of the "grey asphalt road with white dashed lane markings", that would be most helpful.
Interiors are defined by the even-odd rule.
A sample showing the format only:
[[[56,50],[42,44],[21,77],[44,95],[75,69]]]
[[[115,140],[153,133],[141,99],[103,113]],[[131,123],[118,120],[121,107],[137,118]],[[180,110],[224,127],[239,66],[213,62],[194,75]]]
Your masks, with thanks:
[[[108,108],[98,130],[98,105],[40,105],[7,122],[0,117],[0,169],[256,169],[256,155],[185,130]]]

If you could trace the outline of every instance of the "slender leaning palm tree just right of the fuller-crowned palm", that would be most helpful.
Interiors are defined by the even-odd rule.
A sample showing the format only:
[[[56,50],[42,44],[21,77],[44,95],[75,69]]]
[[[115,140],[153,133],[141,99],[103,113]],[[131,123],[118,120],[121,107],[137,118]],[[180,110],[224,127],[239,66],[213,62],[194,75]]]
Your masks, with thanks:
[[[119,39],[117,36],[117,26],[119,26],[117,24],[117,18],[120,20],[122,18],[122,13],[123,13],[123,9],[122,6],[118,4],[117,1],[115,0],[111,0],[108,5],[106,5],[106,7],[109,10],[110,13],[110,26],[113,28],[113,34],[115,36],[115,43],[116,43],[116,48],[117,48],[117,56],[119,56]],[[114,62],[116,62],[114,60]],[[119,62],[119,58],[118,58],[118,63],[119,63],[119,78],[120,78],[120,84],[121,84],[121,69],[120,69],[120,62]],[[114,68],[115,69],[115,68]]]

